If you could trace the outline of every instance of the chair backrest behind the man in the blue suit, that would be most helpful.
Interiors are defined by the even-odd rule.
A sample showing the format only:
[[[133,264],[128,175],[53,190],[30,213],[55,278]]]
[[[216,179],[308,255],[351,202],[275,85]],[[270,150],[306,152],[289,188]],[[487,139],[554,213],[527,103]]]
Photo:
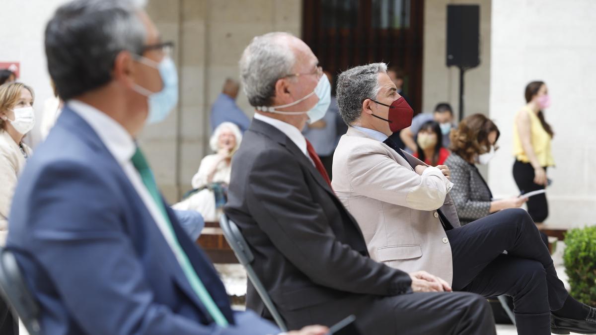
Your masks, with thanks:
[[[41,335],[39,305],[24,280],[14,254],[0,248],[0,291],[17,312],[30,335]]]

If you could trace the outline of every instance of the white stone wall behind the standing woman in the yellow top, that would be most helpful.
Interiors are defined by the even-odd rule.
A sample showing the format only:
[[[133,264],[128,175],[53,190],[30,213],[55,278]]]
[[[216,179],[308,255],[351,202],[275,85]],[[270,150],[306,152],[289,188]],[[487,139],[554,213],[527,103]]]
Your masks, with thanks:
[[[513,118],[525,103],[526,84],[544,80],[552,98],[545,116],[554,128],[557,164],[548,170],[552,227],[596,223],[594,11],[592,0],[492,2],[490,115],[501,130],[502,149],[489,166],[489,185],[495,196],[519,194],[511,173]]]

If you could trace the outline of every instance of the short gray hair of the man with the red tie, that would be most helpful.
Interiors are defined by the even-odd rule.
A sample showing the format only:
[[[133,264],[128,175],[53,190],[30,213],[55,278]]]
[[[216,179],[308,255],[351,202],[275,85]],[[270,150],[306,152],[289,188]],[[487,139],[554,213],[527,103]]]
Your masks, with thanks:
[[[290,74],[296,57],[287,44],[280,42],[293,37],[290,33],[274,32],[256,36],[240,58],[240,79],[251,106],[271,106],[275,82]]]

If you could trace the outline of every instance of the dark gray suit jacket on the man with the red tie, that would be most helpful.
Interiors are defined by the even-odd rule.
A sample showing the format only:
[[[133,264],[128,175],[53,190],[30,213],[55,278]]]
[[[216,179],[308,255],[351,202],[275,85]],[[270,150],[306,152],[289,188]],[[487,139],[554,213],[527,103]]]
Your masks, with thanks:
[[[411,292],[405,272],[368,256],[362,232],[311,161],[283,132],[253,119],[232,159],[224,212],[254,253],[254,270],[288,328],[332,325],[350,314],[370,334],[395,313],[376,302]],[[249,286],[247,307],[270,317]],[[393,323],[393,321],[392,321]]]

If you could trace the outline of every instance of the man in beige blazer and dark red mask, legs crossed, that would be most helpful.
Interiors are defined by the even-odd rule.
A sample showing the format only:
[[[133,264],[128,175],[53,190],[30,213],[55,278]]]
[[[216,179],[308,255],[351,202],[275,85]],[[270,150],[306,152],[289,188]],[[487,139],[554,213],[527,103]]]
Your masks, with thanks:
[[[427,166],[388,141],[411,124],[413,111],[386,64],[343,72],[337,103],[349,129],[334,153],[331,185],[373,259],[429,271],[454,290],[513,296],[519,334],[596,333],[596,309],[564,289],[527,212],[503,210],[460,227],[449,169]]]

